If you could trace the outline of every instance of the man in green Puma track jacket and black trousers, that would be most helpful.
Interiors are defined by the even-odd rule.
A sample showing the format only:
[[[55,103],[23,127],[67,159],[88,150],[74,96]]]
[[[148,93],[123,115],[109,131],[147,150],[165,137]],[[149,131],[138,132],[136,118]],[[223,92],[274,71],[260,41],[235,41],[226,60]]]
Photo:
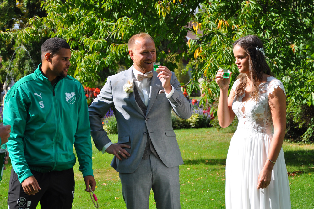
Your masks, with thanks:
[[[60,38],[41,46],[42,63],[5,97],[3,123],[12,162],[8,208],[71,208],[76,150],[86,190],[95,190],[83,86],[68,76],[71,50]]]

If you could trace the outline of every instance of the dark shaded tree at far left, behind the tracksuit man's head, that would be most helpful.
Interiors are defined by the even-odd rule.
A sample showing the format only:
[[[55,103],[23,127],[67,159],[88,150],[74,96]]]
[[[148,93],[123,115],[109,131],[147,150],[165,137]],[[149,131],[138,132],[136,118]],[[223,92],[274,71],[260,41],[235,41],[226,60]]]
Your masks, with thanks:
[[[0,31],[5,34],[0,41],[0,83],[2,85],[6,79],[10,82],[11,77],[19,80],[30,74],[35,70],[34,65],[41,60],[38,48],[43,42],[25,42],[19,45],[10,35],[27,27],[29,18],[35,15],[39,17],[46,15],[46,12],[40,8],[40,2],[40,0],[5,0],[0,3]]]

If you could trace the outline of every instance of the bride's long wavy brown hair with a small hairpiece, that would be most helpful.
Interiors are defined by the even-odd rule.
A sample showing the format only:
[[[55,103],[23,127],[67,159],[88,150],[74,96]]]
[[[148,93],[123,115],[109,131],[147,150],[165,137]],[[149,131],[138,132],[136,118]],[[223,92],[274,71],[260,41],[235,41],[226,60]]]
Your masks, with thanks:
[[[250,98],[256,101],[258,99],[259,92],[258,85],[262,82],[263,73],[267,75],[273,75],[270,67],[266,63],[265,56],[259,50],[259,48],[264,49],[263,43],[261,39],[259,39],[257,36],[247,35],[236,40],[232,45],[233,47],[235,47],[236,45],[240,46],[249,56],[249,75],[251,76],[251,80],[253,83],[252,94]],[[247,85],[246,74],[240,73],[237,79],[240,79],[240,83],[236,87],[236,95],[242,95]]]

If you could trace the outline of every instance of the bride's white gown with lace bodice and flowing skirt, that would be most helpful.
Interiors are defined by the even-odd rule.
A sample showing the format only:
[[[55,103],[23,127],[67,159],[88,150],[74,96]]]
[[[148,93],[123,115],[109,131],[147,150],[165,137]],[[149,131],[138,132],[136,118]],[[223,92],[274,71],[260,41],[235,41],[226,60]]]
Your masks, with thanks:
[[[236,89],[238,80],[233,89]],[[271,182],[265,189],[257,188],[257,177],[268,155],[274,128],[268,106],[268,95],[284,86],[274,77],[259,86],[259,99],[242,102],[235,98],[232,109],[239,119],[226,161],[226,209],[290,209],[290,191],[284,152],[273,167]],[[285,91],[284,91],[285,93]]]

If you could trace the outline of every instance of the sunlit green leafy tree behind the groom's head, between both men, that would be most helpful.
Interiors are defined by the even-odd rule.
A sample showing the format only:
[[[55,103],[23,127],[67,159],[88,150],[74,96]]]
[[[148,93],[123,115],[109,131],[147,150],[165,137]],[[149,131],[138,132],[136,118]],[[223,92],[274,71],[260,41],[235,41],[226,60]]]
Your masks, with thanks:
[[[72,50],[69,74],[82,83],[94,83],[130,66],[127,41],[139,32],[150,34],[158,60],[169,69],[176,67],[187,51],[187,23],[200,1],[60,1],[41,3],[46,17],[29,19],[29,26],[13,37],[20,45],[40,42],[43,37],[66,39]]]

